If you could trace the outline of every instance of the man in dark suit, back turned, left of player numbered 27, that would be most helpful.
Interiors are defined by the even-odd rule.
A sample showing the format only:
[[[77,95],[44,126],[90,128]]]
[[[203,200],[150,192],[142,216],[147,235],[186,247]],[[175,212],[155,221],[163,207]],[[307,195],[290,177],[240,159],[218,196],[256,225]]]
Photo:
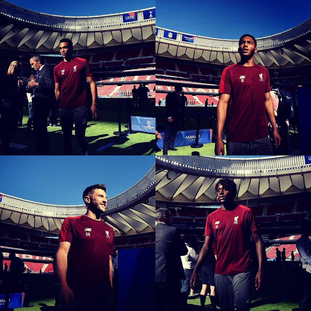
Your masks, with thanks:
[[[179,281],[185,278],[180,256],[188,249],[168,209],[156,210],[156,310],[181,310]]]

